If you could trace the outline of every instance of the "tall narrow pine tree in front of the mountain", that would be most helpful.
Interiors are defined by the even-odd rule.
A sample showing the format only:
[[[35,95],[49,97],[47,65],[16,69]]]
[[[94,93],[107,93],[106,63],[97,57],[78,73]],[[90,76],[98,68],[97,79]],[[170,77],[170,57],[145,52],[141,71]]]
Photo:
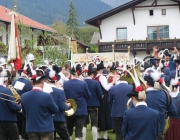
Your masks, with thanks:
[[[68,21],[66,23],[67,26],[67,35],[68,36],[72,36],[73,35],[73,39],[79,39],[79,24],[77,21],[78,15],[77,15],[77,10],[73,4],[73,2],[71,1],[69,4],[69,18]]]

